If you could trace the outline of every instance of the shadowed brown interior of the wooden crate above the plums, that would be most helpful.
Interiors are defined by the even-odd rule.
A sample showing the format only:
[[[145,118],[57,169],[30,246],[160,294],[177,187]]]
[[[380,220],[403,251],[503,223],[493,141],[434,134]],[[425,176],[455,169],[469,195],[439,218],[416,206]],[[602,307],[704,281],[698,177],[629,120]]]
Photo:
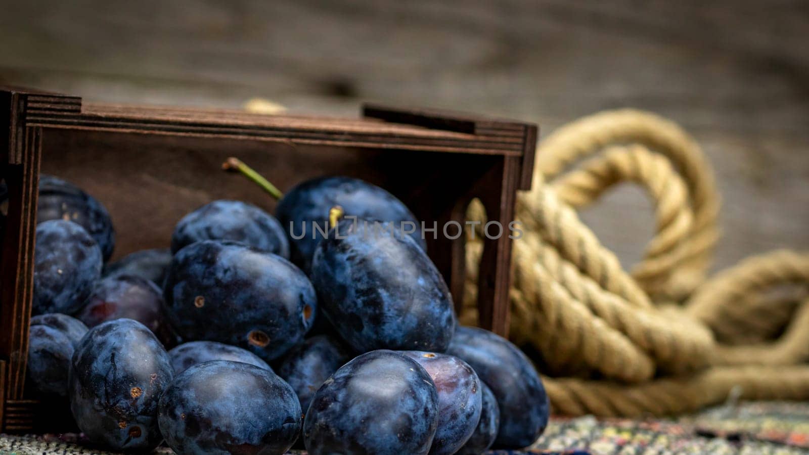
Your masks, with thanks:
[[[112,261],[138,249],[167,248],[177,221],[215,199],[252,202],[273,213],[276,201],[269,194],[222,171],[229,156],[282,191],[316,176],[362,178],[400,198],[428,227],[477,196],[469,189],[498,158],[74,130],[46,130],[42,143],[40,172],[73,182],[109,210],[116,230]]]

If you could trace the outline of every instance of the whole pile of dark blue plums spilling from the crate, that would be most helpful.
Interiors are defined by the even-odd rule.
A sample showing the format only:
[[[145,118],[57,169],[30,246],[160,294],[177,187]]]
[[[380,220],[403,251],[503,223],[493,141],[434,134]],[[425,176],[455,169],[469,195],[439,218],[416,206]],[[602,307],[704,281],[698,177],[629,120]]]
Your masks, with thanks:
[[[171,249],[106,264],[112,221],[82,189],[41,176],[37,221],[28,381],[108,449],[482,453],[544,431],[530,360],[457,326],[399,229],[413,214],[375,185],[306,181],[275,217],[210,202]]]

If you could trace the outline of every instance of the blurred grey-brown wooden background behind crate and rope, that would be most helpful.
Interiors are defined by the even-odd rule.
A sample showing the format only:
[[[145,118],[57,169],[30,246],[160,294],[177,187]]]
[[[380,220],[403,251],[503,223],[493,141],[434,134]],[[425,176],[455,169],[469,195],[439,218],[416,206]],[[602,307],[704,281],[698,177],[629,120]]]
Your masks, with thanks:
[[[718,266],[809,248],[805,0],[0,1],[0,83],[85,100],[355,116],[361,100],[540,123],[680,122],[724,198]],[[653,229],[621,188],[584,218],[625,262]]]

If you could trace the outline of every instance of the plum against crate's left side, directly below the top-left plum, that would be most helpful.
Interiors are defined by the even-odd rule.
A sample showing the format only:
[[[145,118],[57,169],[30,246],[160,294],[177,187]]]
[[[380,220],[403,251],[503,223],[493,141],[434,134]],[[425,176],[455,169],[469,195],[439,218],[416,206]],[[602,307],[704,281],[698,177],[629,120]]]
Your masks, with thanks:
[[[78,224],[64,219],[36,227],[32,314],[74,314],[101,276],[101,250]]]

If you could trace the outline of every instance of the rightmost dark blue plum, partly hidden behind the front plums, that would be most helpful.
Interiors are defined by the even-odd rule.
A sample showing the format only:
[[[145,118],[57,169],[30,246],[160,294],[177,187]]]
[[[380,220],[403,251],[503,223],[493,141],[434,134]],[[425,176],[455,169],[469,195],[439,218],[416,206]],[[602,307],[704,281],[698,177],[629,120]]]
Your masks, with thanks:
[[[523,448],[540,437],[548,425],[548,395],[523,351],[488,330],[459,327],[447,354],[472,365],[497,398],[500,429],[496,447]]]

